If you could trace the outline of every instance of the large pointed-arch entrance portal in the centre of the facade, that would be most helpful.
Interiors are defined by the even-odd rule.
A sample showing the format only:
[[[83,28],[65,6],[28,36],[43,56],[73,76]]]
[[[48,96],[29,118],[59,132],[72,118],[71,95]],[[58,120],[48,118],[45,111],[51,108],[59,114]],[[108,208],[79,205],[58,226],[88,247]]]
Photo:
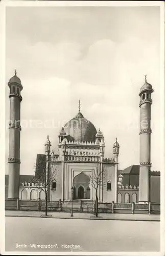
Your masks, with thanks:
[[[90,178],[84,172],[75,176],[73,180],[73,199],[90,199]]]

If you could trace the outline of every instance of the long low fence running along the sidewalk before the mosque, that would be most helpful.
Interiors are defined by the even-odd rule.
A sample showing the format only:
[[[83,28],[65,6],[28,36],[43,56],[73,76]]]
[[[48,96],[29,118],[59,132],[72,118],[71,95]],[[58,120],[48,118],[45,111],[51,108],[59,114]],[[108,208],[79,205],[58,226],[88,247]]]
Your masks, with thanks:
[[[31,210],[31,211],[44,211],[45,201],[42,200],[5,200],[6,210]],[[96,202],[91,200],[74,200],[72,201],[48,201],[48,211],[73,211],[79,212],[95,212]],[[130,214],[160,214],[160,204],[148,203],[98,203],[98,212],[105,213],[130,213]]]

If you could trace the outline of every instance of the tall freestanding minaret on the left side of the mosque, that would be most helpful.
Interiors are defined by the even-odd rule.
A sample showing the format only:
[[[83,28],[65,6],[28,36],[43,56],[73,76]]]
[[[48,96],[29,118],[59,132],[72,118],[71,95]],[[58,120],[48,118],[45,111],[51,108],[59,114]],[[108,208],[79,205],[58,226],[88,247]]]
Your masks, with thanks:
[[[15,75],[9,80],[10,88],[10,122],[9,122],[9,187],[8,198],[19,197],[19,165],[20,165],[20,95],[23,89],[20,79]]]

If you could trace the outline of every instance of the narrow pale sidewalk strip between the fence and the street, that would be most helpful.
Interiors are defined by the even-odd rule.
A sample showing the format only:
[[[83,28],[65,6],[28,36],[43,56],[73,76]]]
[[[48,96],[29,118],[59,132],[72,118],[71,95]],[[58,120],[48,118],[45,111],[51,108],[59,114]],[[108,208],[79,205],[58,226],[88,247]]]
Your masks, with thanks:
[[[85,219],[96,220],[95,215],[84,212],[73,212],[73,217],[70,217],[70,212],[48,212],[48,217],[44,216],[44,211],[16,211],[6,210],[6,217],[36,217],[36,218],[55,218],[55,219]],[[99,214],[97,220],[126,220],[126,221],[160,221],[160,215],[148,214]]]

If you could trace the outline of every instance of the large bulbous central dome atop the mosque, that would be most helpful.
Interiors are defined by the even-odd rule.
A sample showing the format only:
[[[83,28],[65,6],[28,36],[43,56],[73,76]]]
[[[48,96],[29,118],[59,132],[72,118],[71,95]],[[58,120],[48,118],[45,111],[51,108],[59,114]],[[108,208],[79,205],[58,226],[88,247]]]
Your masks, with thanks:
[[[94,141],[96,140],[96,128],[81,112],[76,117],[68,121],[64,130],[66,135],[73,137],[76,141]]]

